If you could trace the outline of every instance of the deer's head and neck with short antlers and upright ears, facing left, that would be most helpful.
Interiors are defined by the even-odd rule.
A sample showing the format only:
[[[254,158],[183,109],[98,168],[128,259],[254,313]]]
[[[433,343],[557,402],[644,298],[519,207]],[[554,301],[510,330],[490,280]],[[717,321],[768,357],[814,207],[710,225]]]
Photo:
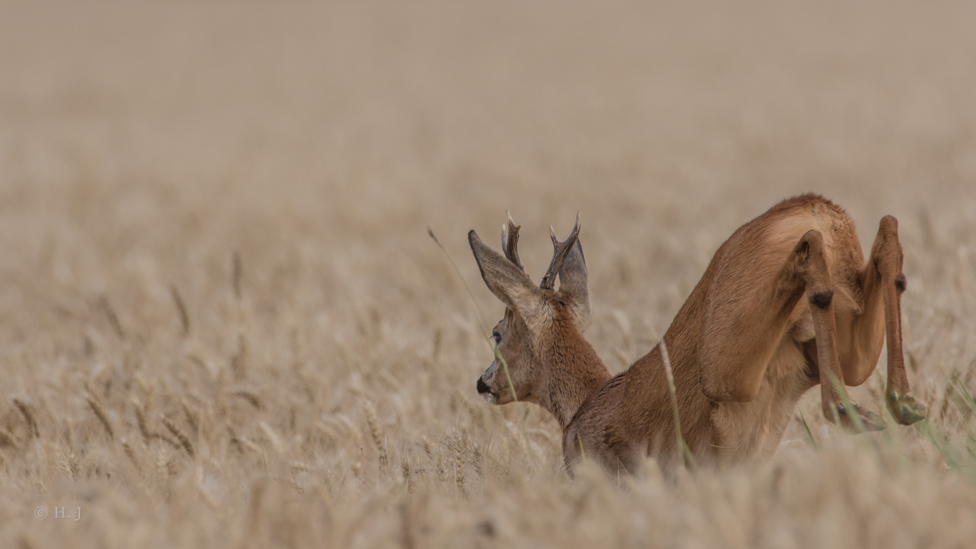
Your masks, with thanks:
[[[609,379],[583,331],[590,323],[590,291],[587,264],[580,245],[580,215],[576,226],[560,242],[552,238],[552,261],[536,286],[518,259],[518,230],[511,216],[502,227],[502,250],[489,248],[478,235],[468,232],[474,259],[488,289],[505,304],[505,317],[495,325],[492,337],[508,364],[497,357],[478,378],[477,390],[485,401],[505,404],[537,402],[565,426],[579,406]],[[555,289],[556,276],[559,289]],[[510,385],[508,378],[510,377]]]

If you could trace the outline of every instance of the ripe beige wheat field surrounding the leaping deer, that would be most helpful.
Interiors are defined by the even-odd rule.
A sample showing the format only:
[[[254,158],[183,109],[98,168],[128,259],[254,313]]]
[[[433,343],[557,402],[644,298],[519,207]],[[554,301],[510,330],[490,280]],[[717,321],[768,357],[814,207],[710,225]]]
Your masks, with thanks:
[[[976,7],[810,4],[0,3],[0,546],[976,546]],[[571,478],[478,397],[469,229],[579,210],[616,373],[809,190],[899,219],[927,423]]]

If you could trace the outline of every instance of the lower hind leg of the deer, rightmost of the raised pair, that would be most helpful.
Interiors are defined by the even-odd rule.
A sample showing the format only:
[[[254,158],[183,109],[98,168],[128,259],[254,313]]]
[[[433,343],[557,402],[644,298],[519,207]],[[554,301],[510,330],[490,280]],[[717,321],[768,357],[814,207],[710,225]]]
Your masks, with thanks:
[[[895,421],[911,425],[925,418],[928,410],[915,401],[905,373],[902,351],[902,293],[907,281],[902,273],[904,255],[898,240],[898,221],[885,216],[877,229],[871,258],[864,267],[864,313],[853,322],[850,366],[857,383],[864,381],[881,354],[881,313],[888,343],[888,387],[885,401]],[[846,370],[845,370],[846,371]]]

